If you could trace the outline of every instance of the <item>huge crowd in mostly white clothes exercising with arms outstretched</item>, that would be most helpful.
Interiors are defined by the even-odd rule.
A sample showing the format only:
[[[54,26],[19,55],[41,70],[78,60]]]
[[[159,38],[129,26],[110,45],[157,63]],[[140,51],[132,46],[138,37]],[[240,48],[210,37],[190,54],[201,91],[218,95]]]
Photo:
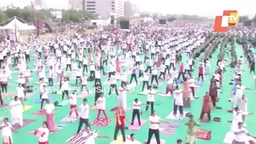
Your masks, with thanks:
[[[143,26],[145,25],[143,24]],[[185,114],[184,108],[192,107],[194,99],[202,98],[203,107],[200,120],[204,119],[204,114],[207,114],[207,121],[220,120],[219,117],[213,118],[210,111],[221,108],[216,106],[216,102],[219,101],[224,73],[228,64],[224,56],[221,55],[216,68],[213,67],[211,54],[220,44],[224,43],[223,47],[233,44],[232,38],[229,36],[222,37],[221,34],[213,34],[212,31],[213,27],[210,23],[194,24],[193,22],[179,21],[174,22],[171,26],[149,24],[147,27],[142,27],[137,24],[137,26],[133,25],[129,32],[123,30],[103,31],[87,37],[75,34],[71,38],[58,37],[58,40],[53,40],[50,37],[46,40],[34,40],[33,43],[3,42],[0,51],[0,82],[2,86],[0,102],[2,107],[7,101],[7,96],[14,96],[14,98],[11,98],[9,104],[11,106],[11,122],[8,117],[5,117],[4,123],[0,126],[2,142],[11,144],[15,140],[12,139],[11,133],[17,131],[13,129],[12,125],[18,123],[23,126],[22,112],[25,109],[27,91],[33,87],[30,78],[32,69],[35,69],[33,71],[37,72],[40,91],[34,94],[38,94],[41,99],[40,109],[44,110],[46,114],[46,121],[34,131],[40,144],[50,143],[48,136],[54,132],[56,125],[54,121],[55,113],[57,113],[56,104],[52,103],[49,98],[49,88],[53,88],[55,83],[59,85],[59,88],[53,92],[62,94],[59,103],[68,99],[69,117],[74,110],[75,117],[79,119],[77,133],[80,133],[82,125],[85,123],[85,133],[82,135],[84,143],[94,144],[94,138],[110,139],[109,136],[100,136],[91,131],[90,120],[92,118],[88,100],[83,99],[83,104],[77,106],[79,92],[87,91],[87,94],[91,94],[90,88],[88,88],[89,82],[92,82],[95,87],[93,91],[94,107],[98,108],[96,121],[100,120],[102,112],[104,114],[103,122],[107,122],[108,117],[105,111],[107,98],[113,97],[113,91],[118,98],[114,140],[117,140],[117,134],[120,131],[125,144],[144,143],[136,140],[133,133],[127,137],[126,126],[133,125],[135,118],[138,119],[140,126],[142,112],[149,110],[150,107],[149,134],[145,143],[150,144],[153,134],[156,143],[161,143],[160,124],[169,122],[156,114],[155,100],[158,97],[155,95],[159,94],[165,97],[174,97],[174,116],[179,114],[180,117],[183,115],[190,117],[190,120],[185,123],[187,126],[185,139],[178,139],[177,143],[181,144],[184,141],[186,144],[196,144],[196,128],[200,126],[200,123],[197,122],[193,114]],[[234,134],[232,144],[245,144],[247,136],[251,136],[248,130],[243,128],[246,125],[245,116],[252,113],[247,111],[248,99],[243,92],[249,88],[242,86],[242,65],[248,60],[251,72],[254,72],[254,60],[252,60],[254,56],[248,43],[243,46],[247,59],[243,59],[242,56],[238,59],[232,80],[231,132]],[[34,57],[31,58],[31,56]],[[28,66],[30,62],[33,62],[34,66]],[[8,90],[10,79],[12,79],[12,67],[18,69],[16,94],[11,94]],[[69,78],[67,75],[70,72],[72,76]],[[198,72],[197,78],[194,78],[194,72]],[[205,82],[207,75],[211,78],[209,91],[205,91],[203,97],[197,96],[195,91],[197,84],[207,85]],[[107,82],[102,82],[104,76],[107,76]],[[72,90],[70,86],[73,85],[70,82],[71,78],[75,79],[77,87],[75,90]],[[166,82],[166,91],[155,89],[160,87],[160,81]],[[142,82],[141,91],[146,93],[147,99],[143,103],[139,101],[139,98],[134,98],[132,119],[128,120],[126,116],[127,96],[130,91],[139,86],[139,82]],[[106,85],[110,85],[107,93],[104,90]],[[142,110],[142,105],[146,106],[145,110]]]

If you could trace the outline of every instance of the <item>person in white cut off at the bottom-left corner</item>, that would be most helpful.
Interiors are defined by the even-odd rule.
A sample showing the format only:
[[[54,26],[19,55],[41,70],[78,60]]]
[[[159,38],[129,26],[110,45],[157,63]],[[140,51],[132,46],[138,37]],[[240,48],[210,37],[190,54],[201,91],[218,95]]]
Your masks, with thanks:
[[[17,133],[17,131],[11,126],[11,123],[8,122],[8,118],[5,117],[4,123],[0,126],[0,130],[2,131],[2,142],[3,144],[11,144],[13,142],[12,133]]]

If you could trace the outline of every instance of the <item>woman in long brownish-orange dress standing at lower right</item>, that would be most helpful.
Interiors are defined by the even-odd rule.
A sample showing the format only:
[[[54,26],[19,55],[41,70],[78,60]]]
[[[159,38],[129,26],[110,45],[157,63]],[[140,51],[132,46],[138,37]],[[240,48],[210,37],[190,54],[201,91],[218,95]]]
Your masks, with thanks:
[[[203,106],[200,114],[200,120],[203,120],[203,115],[207,114],[208,120],[210,120],[210,102],[211,97],[208,92],[203,96]]]

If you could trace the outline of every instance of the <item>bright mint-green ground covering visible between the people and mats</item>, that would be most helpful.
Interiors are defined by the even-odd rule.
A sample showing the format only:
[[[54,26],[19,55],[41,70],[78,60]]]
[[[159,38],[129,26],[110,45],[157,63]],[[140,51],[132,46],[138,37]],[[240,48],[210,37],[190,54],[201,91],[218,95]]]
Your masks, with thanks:
[[[236,45],[236,52],[238,53],[238,56],[242,54],[242,46],[239,46],[238,44]],[[211,74],[213,74],[214,70],[216,69],[216,57],[219,53],[219,49],[216,50],[215,53],[213,53],[213,59],[211,59]],[[184,56],[185,58],[185,56]],[[226,56],[226,59],[229,59]],[[185,59],[184,59],[185,60]],[[30,66],[35,62],[30,62]],[[229,63],[229,62],[228,62]],[[198,60],[196,65],[198,66]],[[34,69],[34,67],[33,67]],[[231,98],[230,96],[230,90],[232,88],[232,85],[229,85],[230,80],[232,79],[231,74],[234,73],[233,69],[230,69],[229,67],[226,67],[227,71],[224,76],[224,83],[222,85],[222,94],[219,95],[220,101],[217,103],[218,106],[222,107],[222,110],[212,110],[211,115],[212,117],[221,117],[222,121],[221,122],[213,122],[211,121],[210,123],[200,123],[201,128],[204,130],[211,130],[212,131],[212,139],[209,141],[201,140],[199,139],[198,144],[220,144],[222,143],[222,140],[224,139],[224,136],[230,129],[231,123],[228,123],[227,120],[232,119],[232,114],[229,114],[226,112],[227,109],[231,107],[231,103],[227,101],[228,98]],[[248,98],[248,111],[249,112],[254,112],[254,104],[256,104],[256,98],[254,98],[254,79],[252,74],[248,74],[248,66],[247,64],[244,64],[243,69],[245,70],[244,74],[242,75],[242,84],[245,85],[245,87],[253,89],[252,91],[245,91],[245,95]],[[48,75],[46,74],[46,77]],[[197,69],[194,72],[194,77],[197,77]],[[10,83],[13,84],[10,88],[8,88],[8,91],[14,91],[14,88],[17,85],[17,82],[15,80],[18,78],[18,73],[13,73],[12,74],[12,79],[10,80]],[[31,83],[37,82],[37,74],[36,72],[33,72],[33,80]],[[107,76],[102,78],[102,82],[106,80]],[[128,78],[130,79],[130,77]],[[72,81],[71,83],[75,83]],[[197,92],[197,96],[200,98],[197,100],[194,100],[192,102],[192,107],[190,109],[184,109],[186,111],[190,111],[190,113],[194,114],[194,117],[197,121],[198,117],[200,116],[200,111],[202,107],[202,101],[201,98],[203,94],[205,94],[206,91],[209,90],[209,83],[210,83],[210,76],[205,81],[205,84],[203,86],[200,86],[199,91]],[[93,82],[89,82],[89,88],[91,88],[93,85]],[[120,82],[118,83],[120,85]],[[162,86],[157,89],[158,92],[165,92],[165,85],[166,83],[162,83]],[[57,86],[56,86],[57,87]],[[58,88],[58,87],[57,87]],[[109,85],[104,85],[104,88],[109,88]],[[134,98],[139,98],[139,101],[145,102],[146,103],[146,96],[145,95],[138,95],[139,91],[141,91],[142,88],[142,83],[140,82],[139,85],[136,86],[135,88],[135,93],[134,94],[127,94],[127,106],[132,107],[133,104],[133,99]],[[61,94],[51,94],[53,95],[53,100],[52,101],[60,101],[61,100]],[[107,94],[104,94],[107,96]],[[13,95],[14,96],[14,95]],[[31,119],[31,120],[36,120],[34,123],[30,123],[28,126],[24,126],[20,130],[18,130],[18,134],[13,134],[14,138],[14,144],[34,144],[37,143],[37,137],[33,135],[27,135],[26,133],[31,131],[31,130],[36,130],[41,126],[41,123],[46,120],[44,116],[35,116],[32,113],[40,109],[40,104],[34,104],[32,101],[39,98],[38,93],[34,93],[34,96],[29,98],[25,104],[26,105],[33,105],[30,110],[27,110],[24,112],[24,119]],[[158,114],[159,117],[162,117],[162,119],[165,119],[165,117],[168,116],[168,114],[171,113],[173,110],[173,97],[171,98],[163,98],[159,97],[158,95],[155,95],[155,101],[158,103],[158,105],[155,105],[155,110]],[[9,103],[10,100],[9,98],[5,98],[5,103]],[[78,105],[82,104],[82,99],[78,99]],[[88,104],[93,105],[94,104],[94,94],[90,94],[88,96]],[[114,113],[110,112],[110,109],[117,106],[117,98],[115,94],[112,94],[110,98],[107,98],[106,101],[106,111],[107,115],[109,117],[114,117]],[[10,114],[7,114],[6,111],[9,110],[9,107],[4,107],[1,108],[0,110],[0,116],[1,117],[10,117]],[[55,115],[55,122],[56,124],[60,124],[60,120],[62,118],[66,117],[69,114],[69,104],[67,104],[65,107],[57,107],[58,110],[56,110],[56,115]],[[142,107],[142,110],[145,110],[145,107]],[[94,118],[96,117],[98,111],[97,110],[90,110],[90,121],[93,121]],[[149,113],[143,114],[142,119],[148,120]],[[129,110],[126,113],[126,117],[130,120],[132,116],[132,110]],[[171,123],[179,123],[180,126],[174,133],[174,136],[165,136],[161,135],[161,139],[165,139],[167,144],[174,143],[176,139],[184,139],[185,138],[185,133],[187,131],[187,126],[184,126],[184,123],[188,120],[187,117],[185,117],[183,120],[167,120]],[[248,125],[247,129],[251,132],[251,134],[256,135],[256,125],[254,124],[256,120],[256,117],[254,115],[248,116],[246,119],[246,123]],[[106,127],[98,127],[98,126],[92,126],[93,130],[100,130],[99,134],[103,136],[109,136],[109,139],[96,139],[96,144],[108,144],[110,143],[114,138],[114,127],[115,127],[116,120],[112,120],[108,126]],[[127,125],[129,123],[126,123]],[[78,127],[78,120],[76,120],[73,123],[66,123],[66,127],[63,130],[60,130],[57,133],[53,133],[52,135],[49,136],[50,143],[56,143],[56,144],[64,144],[66,143],[66,139],[69,139],[70,136],[76,133]],[[149,122],[147,121],[139,131],[130,131],[126,130],[126,134],[129,135],[130,133],[135,133],[136,134],[136,139],[138,139],[140,142],[144,142],[147,139],[148,135],[148,129],[149,129]],[[120,134],[120,133],[119,133]],[[154,138],[154,136],[153,136]]]

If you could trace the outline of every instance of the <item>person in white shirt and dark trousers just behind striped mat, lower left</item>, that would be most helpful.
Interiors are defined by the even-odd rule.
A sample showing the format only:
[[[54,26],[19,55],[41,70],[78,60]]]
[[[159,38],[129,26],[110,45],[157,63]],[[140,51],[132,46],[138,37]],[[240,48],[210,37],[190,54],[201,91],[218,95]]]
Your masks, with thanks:
[[[79,107],[80,108],[80,119],[79,119],[79,125],[78,125],[78,130],[77,130],[77,134],[80,132],[81,128],[82,128],[82,124],[85,123],[85,126],[90,126],[89,123],[89,105],[87,104],[87,99],[85,98],[83,100],[83,104]]]

